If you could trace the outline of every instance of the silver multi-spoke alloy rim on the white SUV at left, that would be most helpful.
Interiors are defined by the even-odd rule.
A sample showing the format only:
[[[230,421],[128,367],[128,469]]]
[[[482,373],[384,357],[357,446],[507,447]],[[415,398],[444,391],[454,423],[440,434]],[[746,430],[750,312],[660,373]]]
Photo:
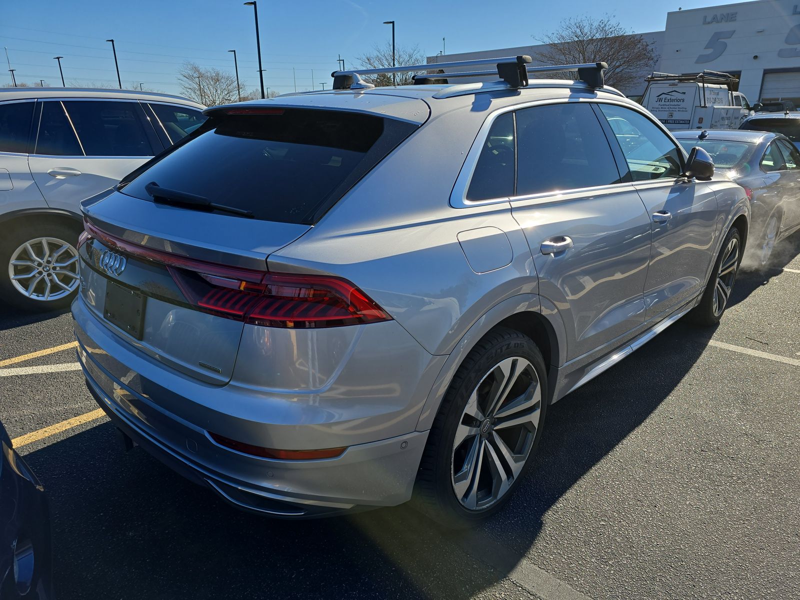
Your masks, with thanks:
[[[8,275],[26,298],[47,302],[78,288],[78,250],[58,238],[35,238],[11,254]]]

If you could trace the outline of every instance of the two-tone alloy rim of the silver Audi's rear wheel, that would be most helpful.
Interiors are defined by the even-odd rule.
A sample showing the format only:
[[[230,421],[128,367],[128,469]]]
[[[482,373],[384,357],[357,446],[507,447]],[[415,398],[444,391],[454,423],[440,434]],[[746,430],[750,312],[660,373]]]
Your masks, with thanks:
[[[534,366],[522,357],[498,362],[475,387],[455,432],[453,490],[469,510],[498,502],[522,472],[542,415]]]

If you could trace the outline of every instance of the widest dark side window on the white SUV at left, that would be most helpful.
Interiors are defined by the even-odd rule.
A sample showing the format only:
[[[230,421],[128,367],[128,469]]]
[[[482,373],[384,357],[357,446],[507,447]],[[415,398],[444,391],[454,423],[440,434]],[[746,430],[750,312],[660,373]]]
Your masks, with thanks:
[[[153,156],[138,102],[63,102],[86,156]],[[160,149],[159,149],[160,150]]]

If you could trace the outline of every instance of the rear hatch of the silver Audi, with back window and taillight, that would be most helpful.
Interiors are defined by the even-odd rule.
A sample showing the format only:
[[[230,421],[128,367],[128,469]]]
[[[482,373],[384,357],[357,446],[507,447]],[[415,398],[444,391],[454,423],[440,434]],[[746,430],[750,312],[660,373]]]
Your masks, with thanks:
[[[357,112],[290,101],[208,111],[185,143],[83,206],[83,300],[130,344],[206,382],[230,381],[246,323],[385,317],[349,282],[270,274],[266,259],[413,133],[427,106],[381,97],[375,112]]]

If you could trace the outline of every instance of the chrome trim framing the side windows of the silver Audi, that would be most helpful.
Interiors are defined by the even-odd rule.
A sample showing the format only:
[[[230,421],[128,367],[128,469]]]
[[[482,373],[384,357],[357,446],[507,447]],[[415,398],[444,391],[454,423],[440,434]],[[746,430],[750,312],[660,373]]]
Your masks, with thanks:
[[[678,149],[678,152],[681,153],[681,156],[684,156],[683,149],[678,142],[675,141],[675,138],[672,137],[670,134],[670,130],[666,129],[662,122],[658,120],[654,120],[650,114],[647,114],[646,110],[642,108],[642,106],[632,105],[628,102],[622,102],[618,100],[618,98],[598,98],[595,94],[586,93],[583,97],[578,98],[546,98],[542,100],[532,100],[530,102],[520,102],[519,104],[514,104],[512,106],[503,106],[502,108],[495,110],[489,116],[486,117],[486,120],[483,122],[481,128],[478,130],[478,135],[475,137],[472,146],[470,147],[470,151],[466,154],[466,159],[464,160],[464,164],[461,167],[461,170],[458,173],[458,178],[453,186],[453,190],[450,192],[450,206],[453,208],[472,208],[474,206],[485,206],[488,204],[498,204],[500,202],[527,202],[532,201],[531,203],[541,203],[542,200],[546,200],[547,202],[554,202],[554,196],[563,197],[565,195],[574,195],[578,192],[581,193],[589,193],[589,194],[598,194],[600,190],[609,189],[609,193],[612,193],[617,190],[622,190],[624,186],[634,186],[637,183],[646,183],[650,184],[650,182],[620,182],[620,183],[612,183],[608,186],[594,186],[594,187],[579,187],[579,188],[572,188],[570,190],[558,190],[554,192],[540,192],[538,194],[526,194],[523,196],[505,196],[502,198],[488,198],[486,200],[467,200],[466,199],[466,191],[470,189],[470,182],[472,181],[472,176],[475,171],[475,166],[478,164],[478,158],[480,158],[481,152],[483,150],[483,145],[486,142],[486,138],[489,135],[489,131],[494,124],[494,120],[498,118],[501,114],[506,114],[508,112],[521,110],[524,108],[530,108],[531,106],[547,106],[551,104],[569,104],[570,102],[586,102],[587,104],[613,104],[616,106],[622,106],[623,108],[627,108],[642,114],[643,117],[648,119],[652,122],[655,126],[658,127],[662,131],[663,134],[666,134],[666,137],[669,138],[670,142],[674,144],[674,146]],[[685,156],[684,156],[685,158]],[[669,178],[662,181],[658,181],[659,184],[669,182],[670,185],[674,185],[676,180],[680,178]]]

